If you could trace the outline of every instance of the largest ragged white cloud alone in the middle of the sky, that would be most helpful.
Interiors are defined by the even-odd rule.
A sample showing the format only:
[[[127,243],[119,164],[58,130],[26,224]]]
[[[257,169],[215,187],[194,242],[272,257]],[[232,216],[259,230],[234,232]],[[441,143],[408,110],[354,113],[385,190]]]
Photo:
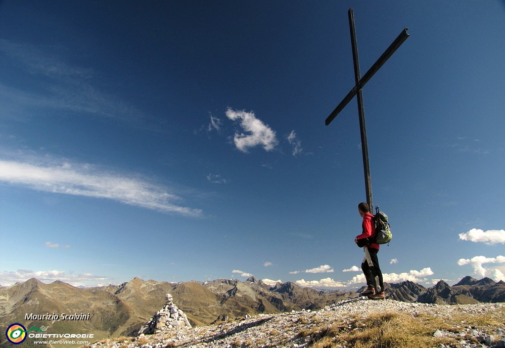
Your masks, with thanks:
[[[250,147],[263,146],[266,151],[273,150],[278,144],[275,132],[261,120],[256,118],[254,112],[226,110],[226,117],[238,121],[240,127],[247,133],[235,133],[233,138],[235,146],[242,152],[247,152]]]

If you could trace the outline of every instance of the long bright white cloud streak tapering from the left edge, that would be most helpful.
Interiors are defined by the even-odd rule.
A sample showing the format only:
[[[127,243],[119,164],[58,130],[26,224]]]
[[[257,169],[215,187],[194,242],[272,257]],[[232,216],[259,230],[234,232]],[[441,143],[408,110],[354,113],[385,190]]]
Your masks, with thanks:
[[[0,182],[37,191],[107,198],[166,213],[201,215],[199,209],[173,204],[180,197],[161,187],[117,173],[93,170],[89,164],[0,160]]]

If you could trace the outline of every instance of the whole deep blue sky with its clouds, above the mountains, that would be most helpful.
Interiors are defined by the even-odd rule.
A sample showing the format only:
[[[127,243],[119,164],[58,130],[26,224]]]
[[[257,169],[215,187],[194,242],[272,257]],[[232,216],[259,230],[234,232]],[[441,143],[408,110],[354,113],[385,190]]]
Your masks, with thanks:
[[[0,284],[505,277],[502,1],[0,3]]]

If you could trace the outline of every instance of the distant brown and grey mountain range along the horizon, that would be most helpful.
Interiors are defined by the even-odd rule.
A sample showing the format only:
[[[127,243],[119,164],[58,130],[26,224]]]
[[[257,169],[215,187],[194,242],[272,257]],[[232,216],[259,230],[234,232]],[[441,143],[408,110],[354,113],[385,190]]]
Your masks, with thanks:
[[[261,313],[280,314],[317,310],[333,303],[360,297],[357,292],[326,292],[293,282],[274,286],[250,277],[205,282],[169,283],[138,277],[120,285],[80,288],[63,281],[46,284],[36,278],[0,288],[0,328],[13,322],[49,330],[94,332],[95,337],[134,335],[165,303],[170,293],[191,325],[204,326],[227,319]],[[402,302],[471,304],[505,302],[505,282],[464,277],[453,286],[440,280],[426,288],[412,281],[385,283],[386,298]],[[89,321],[23,321],[25,314],[90,313]],[[3,338],[5,339],[5,338]],[[0,346],[5,342],[0,341]]]

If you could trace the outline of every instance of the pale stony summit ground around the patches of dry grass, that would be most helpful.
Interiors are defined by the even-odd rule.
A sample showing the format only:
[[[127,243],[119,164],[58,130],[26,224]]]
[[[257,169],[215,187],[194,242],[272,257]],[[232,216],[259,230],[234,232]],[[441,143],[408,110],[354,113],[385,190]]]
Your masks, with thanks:
[[[303,310],[284,314],[260,314],[194,328],[177,328],[170,332],[140,335],[135,338],[95,342],[87,348],[232,348],[232,347],[311,347],[325,336],[325,328],[338,326],[340,332],[364,330],[357,326],[360,318],[374,313],[400,314],[402,317],[438,318],[434,322],[451,322],[438,328],[430,325],[430,335],[439,337],[437,348],[494,347],[505,348],[505,303],[472,305],[434,305],[405,303],[394,300],[371,301],[364,298],[335,303],[318,311]],[[455,319],[456,318],[456,319]],[[492,318],[482,325],[479,318]],[[455,320],[457,323],[455,324]],[[450,327],[450,329],[449,329]],[[434,328],[434,329],[432,329]],[[326,334],[326,336],[328,336]],[[330,339],[330,338],[327,338]],[[333,338],[333,341],[336,339]],[[443,343],[442,343],[443,342]],[[343,344],[343,345],[342,345]],[[347,345],[348,344],[348,345]],[[329,345],[322,345],[329,346]],[[334,343],[333,346],[354,346]]]

